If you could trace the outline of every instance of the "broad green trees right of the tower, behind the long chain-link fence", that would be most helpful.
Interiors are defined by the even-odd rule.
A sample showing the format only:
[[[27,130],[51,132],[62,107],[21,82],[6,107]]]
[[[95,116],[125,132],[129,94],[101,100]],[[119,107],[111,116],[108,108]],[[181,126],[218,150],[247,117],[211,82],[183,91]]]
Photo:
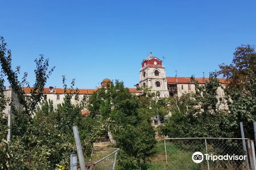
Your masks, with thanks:
[[[179,99],[159,133],[168,137],[231,137],[228,112],[219,107],[223,99],[217,95],[220,82],[216,72],[210,73],[205,86],[193,76],[191,81],[195,84],[195,94],[184,94]]]

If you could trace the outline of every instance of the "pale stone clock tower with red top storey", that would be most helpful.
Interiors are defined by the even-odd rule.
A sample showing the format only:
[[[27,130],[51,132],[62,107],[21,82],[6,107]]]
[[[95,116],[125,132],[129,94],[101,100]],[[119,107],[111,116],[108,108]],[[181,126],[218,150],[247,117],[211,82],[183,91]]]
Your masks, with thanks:
[[[140,86],[152,87],[152,92],[159,92],[158,97],[168,97],[165,67],[162,65],[162,61],[152,56],[152,52],[150,52],[150,56],[142,61],[141,66]]]

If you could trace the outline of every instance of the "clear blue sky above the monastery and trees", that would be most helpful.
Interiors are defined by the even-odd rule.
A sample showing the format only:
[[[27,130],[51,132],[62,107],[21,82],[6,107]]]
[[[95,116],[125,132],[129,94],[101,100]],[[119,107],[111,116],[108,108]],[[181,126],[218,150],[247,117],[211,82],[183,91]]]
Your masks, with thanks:
[[[166,58],[166,76],[208,76],[231,63],[237,46],[256,45],[255,16],[255,0],[5,0],[0,36],[30,86],[34,59],[44,54],[56,66],[46,87],[61,88],[65,75],[78,88],[95,88],[106,77],[133,88],[150,52]]]

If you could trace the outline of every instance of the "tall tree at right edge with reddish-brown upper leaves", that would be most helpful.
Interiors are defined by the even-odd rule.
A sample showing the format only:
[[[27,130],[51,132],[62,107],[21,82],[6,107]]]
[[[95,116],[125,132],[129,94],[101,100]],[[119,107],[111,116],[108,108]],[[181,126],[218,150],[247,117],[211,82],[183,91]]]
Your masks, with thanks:
[[[230,126],[234,137],[241,137],[239,122],[243,122],[245,136],[253,138],[252,122],[256,120],[256,52],[253,45],[241,45],[236,48],[232,64],[219,65],[218,72],[227,78],[224,89],[230,110]]]

